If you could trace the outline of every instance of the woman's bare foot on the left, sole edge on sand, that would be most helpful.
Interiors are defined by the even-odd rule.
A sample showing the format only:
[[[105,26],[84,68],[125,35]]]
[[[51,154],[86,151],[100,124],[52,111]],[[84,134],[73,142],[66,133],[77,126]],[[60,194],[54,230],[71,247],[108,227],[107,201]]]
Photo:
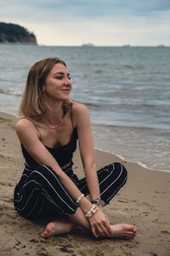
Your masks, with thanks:
[[[62,235],[70,232],[71,230],[74,230],[75,227],[76,225],[72,224],[69,221],[68,222],[59,222],[59,221],[50,222],[46,226],[45,230],[42,232],[42,237]]]

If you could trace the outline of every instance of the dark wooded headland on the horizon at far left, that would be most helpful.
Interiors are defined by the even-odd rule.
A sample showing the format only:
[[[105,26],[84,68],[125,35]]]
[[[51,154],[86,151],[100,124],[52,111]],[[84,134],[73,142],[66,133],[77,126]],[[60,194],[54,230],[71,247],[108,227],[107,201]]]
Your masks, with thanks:
[[[28,32],[23,26],[0,22],[0,42],[37,44],[37,39],[33,32]]]

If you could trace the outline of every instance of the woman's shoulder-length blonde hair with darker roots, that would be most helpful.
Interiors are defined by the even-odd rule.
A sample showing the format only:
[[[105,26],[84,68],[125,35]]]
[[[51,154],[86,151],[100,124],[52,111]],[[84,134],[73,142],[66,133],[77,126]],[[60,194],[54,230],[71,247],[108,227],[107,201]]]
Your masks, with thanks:
[[[42,86],[45,84],[48,73],[50,73],[54,65],[58,63],[66,67],[65,61],[61,61],[59,58],[48,58],[37,61],[31,67],[27,76],[24,94],[20,102],[20,116],[36,116],[50,109],[48,104],[43,101]],[[70,103],[65,102],[64,105],[69,106]]]

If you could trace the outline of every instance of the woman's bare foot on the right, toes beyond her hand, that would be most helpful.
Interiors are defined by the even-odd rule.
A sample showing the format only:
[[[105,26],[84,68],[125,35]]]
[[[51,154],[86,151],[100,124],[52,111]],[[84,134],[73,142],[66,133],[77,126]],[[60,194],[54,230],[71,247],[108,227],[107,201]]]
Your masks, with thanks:
[[[111,225],[112,237],[133,239],[137,234],[137,228],[129,224]]]

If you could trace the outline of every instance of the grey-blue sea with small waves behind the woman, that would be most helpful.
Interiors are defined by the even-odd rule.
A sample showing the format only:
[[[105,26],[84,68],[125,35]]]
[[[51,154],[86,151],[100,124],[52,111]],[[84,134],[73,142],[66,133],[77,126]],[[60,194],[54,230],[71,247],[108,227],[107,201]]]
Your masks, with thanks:
[[[0,44],[0,111],[18,115],[29,68],[51,56],[88,107],[95,148],[170,172],[170,48]]]

